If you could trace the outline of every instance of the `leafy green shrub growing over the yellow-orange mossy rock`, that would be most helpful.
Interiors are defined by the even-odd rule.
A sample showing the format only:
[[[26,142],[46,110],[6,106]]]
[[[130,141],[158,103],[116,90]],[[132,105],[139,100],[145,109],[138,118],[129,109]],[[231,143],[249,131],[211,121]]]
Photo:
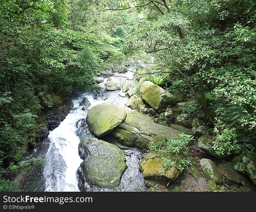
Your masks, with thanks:
[[[188,163],[186,161],[189,152],[188,143],[193,140],[193,136],[184,133],[178,136],[178,139],[157,141],[150,148],[150,151],[156,152],[156,156],[161,158],[166,170],[171,166],[176,166],[182,171]]]

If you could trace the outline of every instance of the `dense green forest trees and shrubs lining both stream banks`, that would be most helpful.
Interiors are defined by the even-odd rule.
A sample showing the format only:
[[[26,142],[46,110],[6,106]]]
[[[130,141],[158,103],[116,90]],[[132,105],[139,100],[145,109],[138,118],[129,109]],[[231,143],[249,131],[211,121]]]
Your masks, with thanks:
[[[42,109],[88,88],[99,67],[138,60],[147,79],[198,100],[218,154],[253,151],[255,34],[254,0],[1,0],[0,162],[13,161],[2,173],[24,166]]]

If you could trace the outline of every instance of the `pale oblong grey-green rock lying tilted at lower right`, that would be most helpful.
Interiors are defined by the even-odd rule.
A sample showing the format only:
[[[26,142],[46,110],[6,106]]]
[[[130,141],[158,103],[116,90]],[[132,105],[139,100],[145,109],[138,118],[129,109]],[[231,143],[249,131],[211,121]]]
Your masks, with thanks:
[[[221,174],[219,173],[217,166],[212,160],[203,158],[200,160],[200,165],[207,179],[214,180],[218,185],[221,185],[223,183]]]

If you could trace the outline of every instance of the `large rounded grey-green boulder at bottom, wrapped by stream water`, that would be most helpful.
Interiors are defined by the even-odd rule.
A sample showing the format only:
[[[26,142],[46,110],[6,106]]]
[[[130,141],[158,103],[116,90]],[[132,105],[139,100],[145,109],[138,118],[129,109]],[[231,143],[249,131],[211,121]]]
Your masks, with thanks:
[[[83,138],[79,143],[79,155],[84,159],[78,170],[79,177],[100,188],[119,185],[127,165],[124,153],[116,145],[96,138]]]

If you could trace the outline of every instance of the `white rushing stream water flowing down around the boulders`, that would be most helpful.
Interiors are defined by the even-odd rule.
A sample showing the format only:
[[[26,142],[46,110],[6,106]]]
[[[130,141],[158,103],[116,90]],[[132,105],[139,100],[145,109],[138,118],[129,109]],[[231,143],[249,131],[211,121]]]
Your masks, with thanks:
[[[115,74],[123,84],[125,80],[133,77],[134,67],[127,67],[127,73]],[[107,78],[104,78],[106,82]],[[121,97],[122,90],[100,91],[97,95],[94,92],[85,92],[78,97],[73,98],[74,108],[66,116],[64,121],[48,136],[50,139],[49,149],[46,154],[46,164],[44,168],[45,191],[80,191],[78,186],[77,169],[83,161],[78,155],[78,145],[83,136],[93,137],[87,127],[77,129],[76,122],[79,119],[86,118],[87,111],[81,110],[79,106],[83,98],[91,103],[91,107],[110,103],[125,107],[127,97]],[[145,191],[146,186],[139,171],[139,160],[142,158],[142,152],[137,148],[124,148],[122,150],[127,159],[128,168],[122,175],[120,185],[116,188],[98,188],[96,186],[84,185],[88,191]]]

